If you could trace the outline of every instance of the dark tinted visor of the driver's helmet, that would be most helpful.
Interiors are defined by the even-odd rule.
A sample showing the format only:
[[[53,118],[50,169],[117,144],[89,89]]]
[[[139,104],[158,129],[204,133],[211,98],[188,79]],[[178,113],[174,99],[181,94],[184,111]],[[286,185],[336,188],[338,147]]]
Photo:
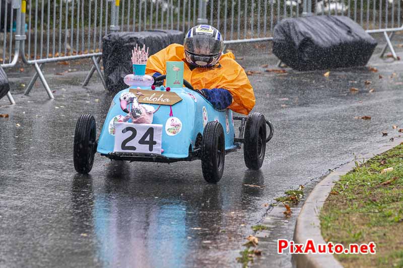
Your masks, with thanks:
[[[222,52],[223,43],[215,40],[211,35],[197,35],[186,37],[185,50],[195,55],[214,56]]]

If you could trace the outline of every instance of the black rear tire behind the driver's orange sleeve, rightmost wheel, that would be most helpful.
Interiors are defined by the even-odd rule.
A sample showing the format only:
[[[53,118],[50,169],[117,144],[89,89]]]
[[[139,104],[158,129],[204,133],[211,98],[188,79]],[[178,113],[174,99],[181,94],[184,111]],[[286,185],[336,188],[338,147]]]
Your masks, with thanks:
[[[260,113],[251,113],[245,125],[243,159],[249,169],[259,169],[266,152],[266,120]]]

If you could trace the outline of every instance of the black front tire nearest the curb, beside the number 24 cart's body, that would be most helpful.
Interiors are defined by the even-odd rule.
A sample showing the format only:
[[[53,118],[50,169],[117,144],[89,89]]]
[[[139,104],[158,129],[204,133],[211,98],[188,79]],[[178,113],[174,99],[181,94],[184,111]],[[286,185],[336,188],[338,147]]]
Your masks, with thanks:
[[[201,170],[208,183],[218,183],[224,173],[225,136],[223,126],[211,121],[205,126],[201,138]]]

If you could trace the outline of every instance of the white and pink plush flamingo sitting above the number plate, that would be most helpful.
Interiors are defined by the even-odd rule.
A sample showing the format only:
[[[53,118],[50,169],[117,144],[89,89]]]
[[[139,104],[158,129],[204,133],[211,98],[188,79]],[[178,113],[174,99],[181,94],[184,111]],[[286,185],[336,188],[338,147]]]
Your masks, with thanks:
[[[153,123],[154,113],[158,111],[151,105],[139,104],[137,97],[134,93],[123,92],[120,97],[120,108],[127,115],[119,120],[119,122],[127,122],[130,119],[136,124],[151,124]],[[130,110],[127,110],[127,105],[130,105]]]

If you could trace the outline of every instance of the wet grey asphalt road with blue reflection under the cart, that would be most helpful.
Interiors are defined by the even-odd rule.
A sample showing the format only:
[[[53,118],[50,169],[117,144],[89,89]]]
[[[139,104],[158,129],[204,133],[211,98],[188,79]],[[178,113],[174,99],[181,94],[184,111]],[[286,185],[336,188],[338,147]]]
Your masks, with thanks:
[[[261,64],[274,64],[262,51],[239,50],[241,65],[263,71]],[[112,96],[99,81],[82,88],[85,72],[52,75],[48,69],[56,99],[48,101],[39,84],[25,97],[20,83],[28,84],[28,74],[9,73],[17,105],[0,101],[0,113],[10,114],[0,118],[0,266],[239,265],[235,258],[251,226],[270,215],[265,204],[300,184],[312,188],[353,153],[398,135],[391,126],[403,126],[402,64],[374,58],[371,65],[379,72],[251,75],[254,111],[270,118],[275,136],[261,170],[246,169],[242,150],[231,153],[217,185],[204,181],[199,161],[126,163],[96,155],[90,175],[77,174],[76,121],[92,113],[99,134]],[[354,118],[366,115],[372,119]],[[273,223],[258,265],[291,266],[290,256],[274,253],[274,241],[279,234],[292,237],[295,217]]]

